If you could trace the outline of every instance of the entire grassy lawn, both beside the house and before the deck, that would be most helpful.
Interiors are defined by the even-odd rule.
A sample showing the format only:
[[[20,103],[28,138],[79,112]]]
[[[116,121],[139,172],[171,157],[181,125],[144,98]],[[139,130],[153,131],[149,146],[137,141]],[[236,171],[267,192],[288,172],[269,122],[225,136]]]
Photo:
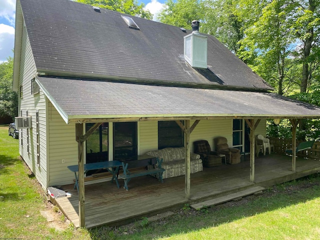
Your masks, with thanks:
[[[186,205],[152,222],[75,229],[47,202],[19,158],[18,143],[0,126],[0,239],[320,239],[320,174],[201,211]],[[50,211],[54,221],[40,210]]]

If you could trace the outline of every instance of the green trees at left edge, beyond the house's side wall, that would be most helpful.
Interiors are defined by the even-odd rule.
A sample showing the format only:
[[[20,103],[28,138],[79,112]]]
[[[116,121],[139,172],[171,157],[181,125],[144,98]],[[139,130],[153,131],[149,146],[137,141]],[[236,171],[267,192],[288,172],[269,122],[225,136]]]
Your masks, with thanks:
[[[17,94],[12,90],[13,58],[0,63],[0,116],[17,115]]]

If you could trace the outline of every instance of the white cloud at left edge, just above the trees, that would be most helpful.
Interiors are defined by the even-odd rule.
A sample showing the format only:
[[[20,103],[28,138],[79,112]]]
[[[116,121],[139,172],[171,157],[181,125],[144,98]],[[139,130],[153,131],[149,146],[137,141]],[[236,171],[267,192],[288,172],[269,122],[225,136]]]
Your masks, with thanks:
[[[13,56],[14,27],[0,24],[0,62],[6,61],[8,56]]]

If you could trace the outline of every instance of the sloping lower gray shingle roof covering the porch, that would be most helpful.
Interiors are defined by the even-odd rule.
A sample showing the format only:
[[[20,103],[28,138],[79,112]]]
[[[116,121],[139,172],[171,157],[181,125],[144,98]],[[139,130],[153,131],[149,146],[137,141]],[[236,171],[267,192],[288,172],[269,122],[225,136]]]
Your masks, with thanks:
[[[66,123],[147,119],[320,118],[319,107],[274,93],[43,76],[37,76],[36,82]]]

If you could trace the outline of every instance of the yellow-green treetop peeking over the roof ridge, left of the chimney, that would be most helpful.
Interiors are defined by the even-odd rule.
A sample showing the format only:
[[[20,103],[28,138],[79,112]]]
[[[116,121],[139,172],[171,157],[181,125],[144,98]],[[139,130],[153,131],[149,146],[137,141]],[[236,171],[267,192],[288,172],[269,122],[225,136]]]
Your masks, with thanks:
[[[113,11],[126,13],[133,16],[139,16],[146,19],[152,19],[152,14],[144,10],[144,4],[138,4],[136,0],[76,0],[77,2],[106,8]]]

